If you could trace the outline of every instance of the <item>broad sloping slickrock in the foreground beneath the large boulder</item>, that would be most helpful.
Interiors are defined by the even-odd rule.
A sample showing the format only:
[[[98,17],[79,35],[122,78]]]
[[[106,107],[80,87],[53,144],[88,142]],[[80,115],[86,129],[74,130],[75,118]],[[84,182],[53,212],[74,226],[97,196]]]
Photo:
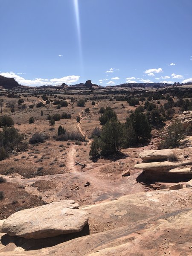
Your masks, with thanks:
[[[41,250],[31,249],[38,240],[26,239],[15,242],[20,248],[14,252],[5,247],[0,256],[190,255],[191,196],[192,188],[153,191],[82,207],[89,215],[90,235]]]

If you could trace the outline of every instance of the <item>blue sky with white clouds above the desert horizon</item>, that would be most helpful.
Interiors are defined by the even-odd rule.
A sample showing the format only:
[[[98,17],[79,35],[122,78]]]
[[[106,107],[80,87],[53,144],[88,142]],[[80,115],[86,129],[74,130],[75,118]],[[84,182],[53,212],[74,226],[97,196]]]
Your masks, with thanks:
[[[192,0],[0,0],[0,75],[22,85],[192,82]]]

